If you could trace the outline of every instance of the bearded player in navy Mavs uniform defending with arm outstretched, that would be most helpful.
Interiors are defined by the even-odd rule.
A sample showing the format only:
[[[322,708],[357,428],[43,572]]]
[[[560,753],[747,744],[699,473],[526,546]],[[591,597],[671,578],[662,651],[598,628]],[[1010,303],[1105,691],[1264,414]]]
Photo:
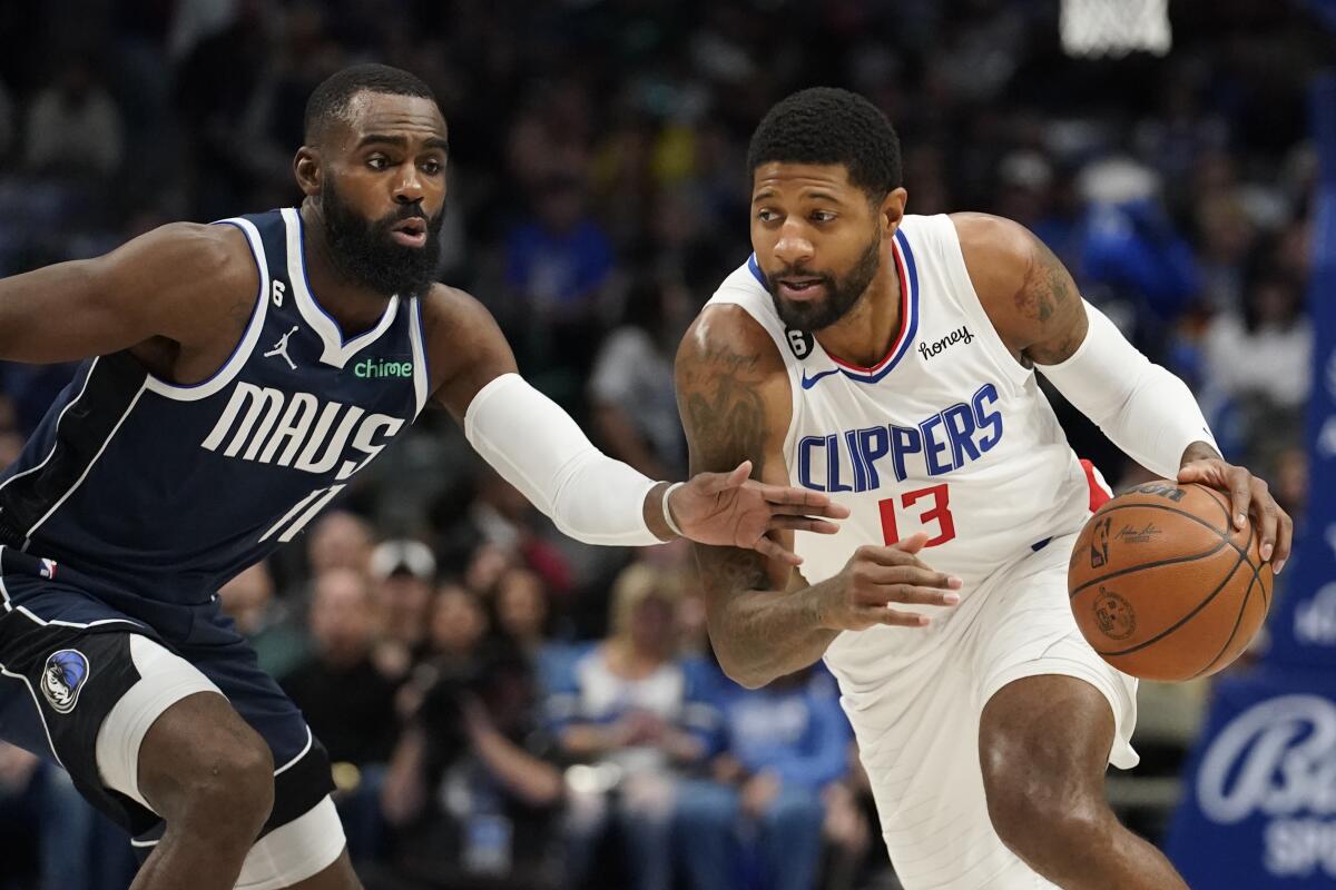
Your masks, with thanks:
[[[0,282],[0,358],[88,359],[0,475],[0,737],[126,825],[136,890],[358,886],[323,749],[215,591],[426,407],[591,543],[786,559],[767,531],[844,515],[745,463],[645,479],[524,383],[489,314],[432,283],[446,140],[417,77],[350,68],[307,105],[301,208]]]

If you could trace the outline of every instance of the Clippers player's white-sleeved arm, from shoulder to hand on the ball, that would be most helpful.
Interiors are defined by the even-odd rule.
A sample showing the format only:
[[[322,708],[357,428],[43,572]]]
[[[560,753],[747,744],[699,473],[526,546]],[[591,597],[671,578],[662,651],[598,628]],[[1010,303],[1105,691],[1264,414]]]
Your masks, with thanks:
[[[1261,556],[1280,571],[1292,522],[1267,483],[1226,463],[1188,386],[1137,351],[1023,227],[982,213],[953,216],[970,278],[1002,335],[1082,414],[1149,470],[1230,495],[1234,524],[1252,512]]]

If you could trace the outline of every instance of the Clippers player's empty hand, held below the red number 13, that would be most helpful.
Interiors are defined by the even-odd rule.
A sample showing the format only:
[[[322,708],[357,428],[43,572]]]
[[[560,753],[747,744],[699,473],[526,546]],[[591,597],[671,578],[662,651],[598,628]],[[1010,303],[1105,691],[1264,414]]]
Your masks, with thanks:
[[[954,606],[961,579],[923,564],[918,552],[927,543],[919,532],[890,547],[854,551],[840,574],[822,587],[820,624],[830,630],[867,630],[876,624],[923,627],[927,615],[900,611],[894,603]]]

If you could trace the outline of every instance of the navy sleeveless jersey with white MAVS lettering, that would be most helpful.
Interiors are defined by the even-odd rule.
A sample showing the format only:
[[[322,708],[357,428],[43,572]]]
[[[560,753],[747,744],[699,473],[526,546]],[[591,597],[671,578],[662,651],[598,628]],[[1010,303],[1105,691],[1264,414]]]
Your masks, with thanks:
[[[293,208],[244,232],[259,294],[231,358],[175,386],[128,352],[84,362],[0,475],[0,543],[182,604],[291,540],[428,399],[418,300],[345,340],[311,295]]]

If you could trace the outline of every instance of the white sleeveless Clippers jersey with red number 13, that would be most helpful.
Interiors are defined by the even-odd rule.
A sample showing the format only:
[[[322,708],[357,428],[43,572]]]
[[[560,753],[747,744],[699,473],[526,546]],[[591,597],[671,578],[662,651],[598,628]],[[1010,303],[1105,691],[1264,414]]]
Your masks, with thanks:
[[[983,578],[1079,528],[1090,504],[1086,471],[1033,371],[1011,356],[979,303],[950,217],[906,216],[894,252],[900,334],[871,368],[786,330],[755,256],[709,300],[747,310],[784,359],[794,399],[784,439],[791,483],[852,510],[839,534],[796,536],[803,576],[816,583],[860,544],[923,531],[919,558],[965,580],[958,608],[921,610],[934,616],[929,628],[842,634],[827,662],[846,694],[871,693],[892,667],[887,659],[912,656],[953,619],[977,611],[969,596]]]

